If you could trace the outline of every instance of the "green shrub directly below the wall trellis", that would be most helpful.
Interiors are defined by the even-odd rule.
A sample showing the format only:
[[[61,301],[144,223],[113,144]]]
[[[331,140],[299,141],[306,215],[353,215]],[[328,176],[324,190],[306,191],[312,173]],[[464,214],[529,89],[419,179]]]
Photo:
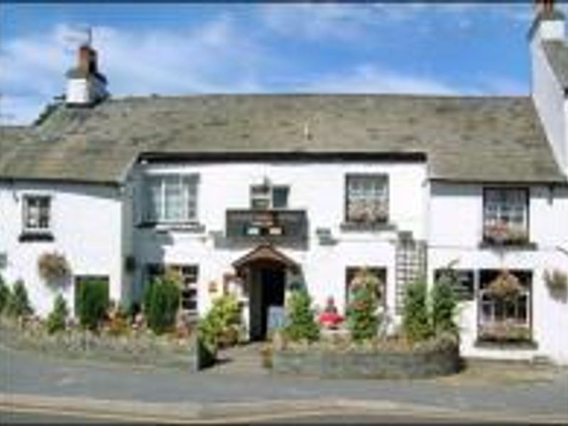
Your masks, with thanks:
[[[432,336],[428,313],[427,285],[424,280],[408,283],[405,288],[403,305],[403,330],[411,342]]]

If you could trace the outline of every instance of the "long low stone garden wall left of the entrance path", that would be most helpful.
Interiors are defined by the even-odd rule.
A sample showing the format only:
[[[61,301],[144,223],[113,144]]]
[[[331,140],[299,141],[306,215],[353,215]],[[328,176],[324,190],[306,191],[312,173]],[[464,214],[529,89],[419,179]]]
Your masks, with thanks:
[[[113,361],[129,365],[151,365],[197,371],[214,362],[214,355],[190,337],[156,336],[148,330],[113,336],[82,329],[48,334],[43,328],[20,327],[0,320],[0,343],[11,349],[46,355]]]

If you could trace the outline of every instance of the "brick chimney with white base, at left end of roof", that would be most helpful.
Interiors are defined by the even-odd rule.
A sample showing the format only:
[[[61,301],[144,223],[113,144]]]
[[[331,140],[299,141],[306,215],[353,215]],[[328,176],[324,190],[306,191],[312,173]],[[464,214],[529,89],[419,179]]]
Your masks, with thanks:
[[[97,50],[84,43],[77,50],[77,66],[67,71],[65,102],[70,106],[92,106],[107,96],[107,78],[98,70]]]

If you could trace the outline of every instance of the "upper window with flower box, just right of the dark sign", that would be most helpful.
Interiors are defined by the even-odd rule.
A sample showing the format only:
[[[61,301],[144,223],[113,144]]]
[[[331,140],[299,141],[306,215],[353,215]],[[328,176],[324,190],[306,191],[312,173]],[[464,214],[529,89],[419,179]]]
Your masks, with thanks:
[[[387,222],[388,176],[347,175],[346,221]]]

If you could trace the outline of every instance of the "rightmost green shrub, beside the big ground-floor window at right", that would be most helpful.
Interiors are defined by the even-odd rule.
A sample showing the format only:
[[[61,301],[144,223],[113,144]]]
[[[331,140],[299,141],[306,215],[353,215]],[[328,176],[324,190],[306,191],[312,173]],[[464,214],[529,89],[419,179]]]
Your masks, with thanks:
[[[452,274],[443,274],[432,287],[432,329],[436,334],[442,332],[455,332],[454,322],[456,310],[456,283]]]

